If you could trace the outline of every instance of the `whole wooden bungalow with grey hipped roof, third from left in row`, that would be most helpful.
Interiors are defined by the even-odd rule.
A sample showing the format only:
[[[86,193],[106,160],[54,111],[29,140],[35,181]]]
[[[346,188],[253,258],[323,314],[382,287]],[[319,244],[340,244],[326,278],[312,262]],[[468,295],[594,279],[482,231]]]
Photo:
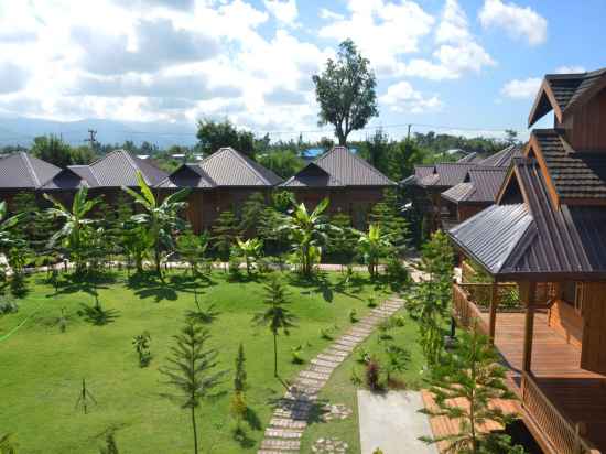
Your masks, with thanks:
[[[237,215],[244,202],[255,193],[268,198],[282,179],[232,148],[221,148],[194,164],[183,164],[163,179],[161,192],[191,187],[187,220],[194,231],[208,229],[220,212]]]

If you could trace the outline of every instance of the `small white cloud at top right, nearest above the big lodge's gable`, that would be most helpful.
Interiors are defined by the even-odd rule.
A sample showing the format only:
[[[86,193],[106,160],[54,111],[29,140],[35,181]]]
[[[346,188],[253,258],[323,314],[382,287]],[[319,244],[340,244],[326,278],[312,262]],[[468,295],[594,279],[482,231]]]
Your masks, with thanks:
[[[504,30],[513,39],[526,39],[530,45],[547,41],[548,21],[530,7],[485,0],[479,11],[479,21],[485,29]]]

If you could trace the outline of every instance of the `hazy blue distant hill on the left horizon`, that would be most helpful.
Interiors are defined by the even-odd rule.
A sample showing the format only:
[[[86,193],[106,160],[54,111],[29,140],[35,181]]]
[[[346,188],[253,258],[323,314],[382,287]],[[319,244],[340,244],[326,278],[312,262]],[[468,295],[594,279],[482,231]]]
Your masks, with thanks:
[[[141,144],[148,141],[166,148],[173,144],[194,145],[195,125],[142,121],[115,121],[86,119],[78,121],[54,121],[24,117],[0,117],[0,147],[29,145],[34,137],[56,134],[63,140],[79,145],[88,138],[88,129],[97,131],[100,143],[123,143],[127,140]]]

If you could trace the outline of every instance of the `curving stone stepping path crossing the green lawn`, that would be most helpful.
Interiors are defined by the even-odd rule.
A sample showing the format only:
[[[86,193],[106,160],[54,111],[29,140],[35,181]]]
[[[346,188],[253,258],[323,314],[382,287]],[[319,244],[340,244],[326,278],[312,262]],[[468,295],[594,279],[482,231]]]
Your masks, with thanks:
[[[307,426],[307,419],[320,390],[354,348],[365,340],[382,321],[402,309],[403,304],[403,300],[391,298],[372,309],[312,359],[306,369],[299,372],[294,385],[284,393],[273,411],[258,454],[289,454],[301,451],[301,437]],[[344,446],[337,440],[321,441],[323,443],[314,444],[317,450],[315,452],[340,453],[347,450],[345,446],[345,451],[342,451]]]

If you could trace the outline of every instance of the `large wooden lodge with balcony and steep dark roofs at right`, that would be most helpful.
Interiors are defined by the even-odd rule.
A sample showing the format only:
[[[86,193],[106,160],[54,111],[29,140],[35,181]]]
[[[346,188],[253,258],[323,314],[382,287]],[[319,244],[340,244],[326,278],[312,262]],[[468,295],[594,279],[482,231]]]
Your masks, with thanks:
[[[551,110],[496,204],[448,231],[493,280],[455,283],[453,315],[491,337],[544,452],[606,453],[606,69],[547,75],[529,127]]]

